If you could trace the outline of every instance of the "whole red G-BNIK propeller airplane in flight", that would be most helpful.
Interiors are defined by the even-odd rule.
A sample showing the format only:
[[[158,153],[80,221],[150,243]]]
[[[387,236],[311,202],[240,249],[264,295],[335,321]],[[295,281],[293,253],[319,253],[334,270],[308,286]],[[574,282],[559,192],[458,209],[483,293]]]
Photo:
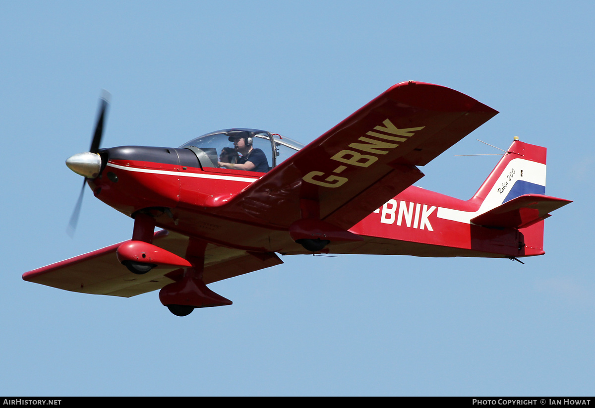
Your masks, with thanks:
[[[434,84],[396,84],[307,146],[234,128],[177,148],[100,149],[106,110],[102,99],[89,152],[67,165],[134,219],[132,239],[26,281],[123,297],[160,289],[186,316],[231,305],[206,284],[283,263],[277,254],[543,255],[543,220],[571,202],[545,195],[546,148],[516,138],[469,200],[412,186],[417,166],[498,113]]]

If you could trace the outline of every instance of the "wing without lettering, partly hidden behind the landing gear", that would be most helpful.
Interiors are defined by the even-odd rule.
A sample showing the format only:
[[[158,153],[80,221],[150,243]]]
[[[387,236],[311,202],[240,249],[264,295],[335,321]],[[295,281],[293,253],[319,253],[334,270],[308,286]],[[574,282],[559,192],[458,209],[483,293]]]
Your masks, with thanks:
[[[184,256],[188,237],[162,230],[155,233],[153,242]],[[161,289],[181,278],[181,269],[168,266],[157,266],[144,275],[131,274],[116,258],[120,244],[26,272],[23,279],[73,292],[131,297]],[[251,253],[209,244],[203,281],[209,284],[280,263],[283,261],[274,253]]]

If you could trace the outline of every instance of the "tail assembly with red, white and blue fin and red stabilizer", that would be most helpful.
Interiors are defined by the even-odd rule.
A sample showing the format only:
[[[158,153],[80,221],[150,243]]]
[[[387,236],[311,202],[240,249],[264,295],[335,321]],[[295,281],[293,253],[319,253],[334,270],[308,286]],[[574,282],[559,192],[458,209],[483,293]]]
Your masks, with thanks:
[[[521,256],[542,255],[543,220],[570,200],[546,196],[545,147],[519,142],[498,162],[470,202],[480,204],[471,222],[485,227],[518,228]]]

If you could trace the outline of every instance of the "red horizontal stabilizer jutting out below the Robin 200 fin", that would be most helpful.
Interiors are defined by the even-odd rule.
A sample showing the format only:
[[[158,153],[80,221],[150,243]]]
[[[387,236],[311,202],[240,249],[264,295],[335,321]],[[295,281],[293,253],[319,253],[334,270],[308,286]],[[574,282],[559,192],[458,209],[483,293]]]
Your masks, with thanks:
[[[571,202],[541,194],[524,194],[472,218],[471,222],[484,227],[525,228]]]

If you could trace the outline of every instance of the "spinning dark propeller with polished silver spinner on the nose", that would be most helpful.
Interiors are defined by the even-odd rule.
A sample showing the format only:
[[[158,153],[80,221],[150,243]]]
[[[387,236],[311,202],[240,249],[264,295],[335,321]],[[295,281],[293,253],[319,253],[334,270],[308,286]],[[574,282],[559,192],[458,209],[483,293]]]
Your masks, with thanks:
[[[97,115],[97,121],[95,124],[95,132],[93,133],[93,139],[91,140],[91,147],[88,152],[77,153],[76,155],[70,156],[66,159],[66,165],[70,170],[76,174],[84,177],[83,187],[79,193],[79,199],[77,200],[76,206],[74,206],[73,215],[70,217],[68,222],[67,233],[71,237],[74,236],[74,230],[79,222],[80,207],[83,203],[84,185],[87,183],[87,178],[95,178],[101,172],[101,156],[99,156],[99,145],[101,144],[101,137],[104,134],[104,121],[105,115],[107,114],[107,108],[109,105],[109,92],[104,90],[99,99],[99,111]]]

